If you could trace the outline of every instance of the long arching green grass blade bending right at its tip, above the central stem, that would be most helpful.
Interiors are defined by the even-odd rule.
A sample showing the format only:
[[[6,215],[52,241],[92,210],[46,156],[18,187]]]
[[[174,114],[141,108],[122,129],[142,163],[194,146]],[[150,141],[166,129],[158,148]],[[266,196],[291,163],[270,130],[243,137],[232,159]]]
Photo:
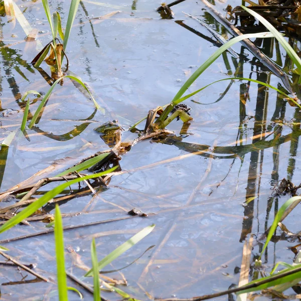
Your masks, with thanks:
[[[186,90],[193,84],[193,82],[228,48],[233,46],[234,44],[245,40],[245,39],[251,39],[251,38],[271,38],[273,35],[271,33],[258,33],[258,34],[246,34],[242,36],[235,37],[228,41],[226,44],[222,45],[214,54],[210,56],[209,59],[207,59],[201,67],[199,67],[193,75],[184,83],[184,85],[181,87],[179,92],[174,97],[173,101],[178,100],[185,92]]]

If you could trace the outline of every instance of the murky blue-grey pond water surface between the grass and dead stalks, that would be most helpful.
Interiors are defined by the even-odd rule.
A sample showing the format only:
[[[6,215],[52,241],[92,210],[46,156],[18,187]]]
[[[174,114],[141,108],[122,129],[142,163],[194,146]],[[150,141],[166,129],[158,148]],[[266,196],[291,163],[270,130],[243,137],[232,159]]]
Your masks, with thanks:
[[[39,41],[46,45],[51,35],[42,3],[16,4],[26,10],[24,16],[40,31]],[[50,4],[51,10],[58,10],[66,21],[68,3]],[[223,12],[226,5],[217,3],[216,8]],[[63,170],[107,149],[93,131],[96,125],[117,118],[127,128],[149,109],[170,102],[185,80],[217,49],[193,32],[212,38],[206,28],[182,14],[184,11],[200,16],[221,33],[222,29],[201,2],[187,0],[174,6],[174,20],[162,20],[155,10],[158,6],[160,3],[153,0],[133,3],[115,0],[108,4],[89,0],[80,4],[67,48],[69,68],[89,85],[96,100],[106,109],[105,115],[95,112],[93,102],[65,79],[62,87],[55,88],[36,127],[27,130],[28,139],[17,134],[10,147],[2,146],[2,191],[56,160],[69,158],[61,167]],[[89,19],[114,11],[120,12],[106,20]],[[0,135],[6,137],[21,125],[25,103],[20,98],[24,92],[45,93],[49,85],[30,65],[37,54],[37,43],[25,42],[26,35],[18,22],[14,27],[6,17],[1,19]],[[267,45],[263,46],[267,49]],[[191,92],[234,74],[238,63],[239,76],[281,85],[258,61],[252,65],[252,55],[240,44],[233,50],[241,59],[234,59],[230,53],[220,57],[196,81]],[[269,56],[274,57],[273,52]],[[46,64],[43,67],[47,68]],[[121,268],[155,245],[121,272],[107,274],[125,278],[128,286],[120,287],[126,292],[140,300],[192,297],[238,283],[243,242],[251,233],[260,236],[288,199],[288,196],[272,197],[271,188],[284,177],[296,185],[301,181],[297,157],[301,115],[277,92],[252,82],[248,86],[239,81],[223,81],[208,87],[193,100],[186,101],[194,118],[189,128],[191,135],[165,143],[149,140],[137,143],[122,157],[120,166],[125,173],[114,177],[107,190],[61,204],[62,213],[82,213],[64,217],[65,226],[127,217],[127,211],[134,207],[149,214],[147,218],[65,231],[66,268],[70,273],[81,278],[84,274],[81,263],[91,266],[92,237],[96,238],[101,259],[134,233],[155,223],[151,234],[106,268]],[[34,102],[31,113],[40,99]],[[168,129],[179,135],[181,126],[181,121],[174,121]],[[284,138],[278,138],[279,135]],[[123,134],[124,139],[133,137],[135,134]],[[57,171],[49,175],[55,174]],[[248,202],[246,207],[242,206],[244,202]],[[44,209],[53,213],[53,207]],[[292,232],[299,230],[298,211],[296,208],[284,221]],[[42,230],[44,223],[31,222],[31,226],[19,225],[5,232],[1,240]],[[263,259],[267,273],[277,261],[292,263],[294,255],[287,247],[295,244],[286,240],[269,244]],[[33,275],[23,270],[3,267],[1,298],[57,299],[53,234],[3,245],[21,262],[37,265],[35,270],[52,282],[37,283]],[[254,247],[254,258],[261,248],[262,242]],[[256,271],[252,275],[255,274]],[[92,283],[91,278],[84,280]],[[85,300],[93,299],[90,293],[68,281],[84,293]],[[78,299],[73,292],[69,296],[70,300]],[[120,299],[115,293],[104,292],[103,297]]]

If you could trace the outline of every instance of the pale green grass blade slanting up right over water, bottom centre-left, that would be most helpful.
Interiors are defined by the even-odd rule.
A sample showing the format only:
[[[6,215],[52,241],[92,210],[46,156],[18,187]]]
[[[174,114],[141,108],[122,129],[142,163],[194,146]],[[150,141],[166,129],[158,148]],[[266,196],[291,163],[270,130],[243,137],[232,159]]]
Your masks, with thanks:
[[[121,246],[116,248],[114,251],[112,251],[110,254],[105,256],[101,261],[98,262],[98,270],[101,270],[104,268],[107,264],[112,262],[114,259],[119,257],[122,253],[127,251],[129,248],[131,248],[133,245],[135,245],[137,242],[139,242],[142,238],[144,238],[146,235],[148,235],[150,232],[152,232],[155,228],[155,224],[148,226],[141,231],[139,231],[137,234],[132,236],[129,240],[127,240],[125,243],[123,243]],[[1,230],[1,228],[0,228]],[[86,274],[85,277],[91,276],[93,273],[93,268],[91,268]]]

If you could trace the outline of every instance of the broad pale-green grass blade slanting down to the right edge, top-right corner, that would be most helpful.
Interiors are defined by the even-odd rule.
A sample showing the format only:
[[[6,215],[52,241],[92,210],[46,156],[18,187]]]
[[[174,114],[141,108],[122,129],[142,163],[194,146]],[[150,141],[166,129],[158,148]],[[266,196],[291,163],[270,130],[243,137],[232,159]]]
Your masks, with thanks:
[[[241,7],[250,15],[258,19],[261,22],[261,24],[273,34],[273,36],[279,41],[279,43],[282,45],[288,56],[291,58],[293,63],[296,65],[298,71],[301,72],[301,60],[296,54],[296,52],[292,49],[292,47],[285,41],[282,34],[280,34],[268,21],[266,21],[263,17],[261,17],[254,11],[244,7],[243,5],[241,5]]]

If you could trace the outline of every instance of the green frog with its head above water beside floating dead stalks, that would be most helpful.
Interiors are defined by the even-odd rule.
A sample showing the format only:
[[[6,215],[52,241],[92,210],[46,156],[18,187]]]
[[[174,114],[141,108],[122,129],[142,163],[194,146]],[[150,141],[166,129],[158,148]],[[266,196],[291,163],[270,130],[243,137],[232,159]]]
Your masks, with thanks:
[[[100,133],[100,137],[104,143],[113,147],[121,140],[121,132],[123,131],[123,128],[118,124],[117,120],[113,120],[95,127],[94,130]]]

